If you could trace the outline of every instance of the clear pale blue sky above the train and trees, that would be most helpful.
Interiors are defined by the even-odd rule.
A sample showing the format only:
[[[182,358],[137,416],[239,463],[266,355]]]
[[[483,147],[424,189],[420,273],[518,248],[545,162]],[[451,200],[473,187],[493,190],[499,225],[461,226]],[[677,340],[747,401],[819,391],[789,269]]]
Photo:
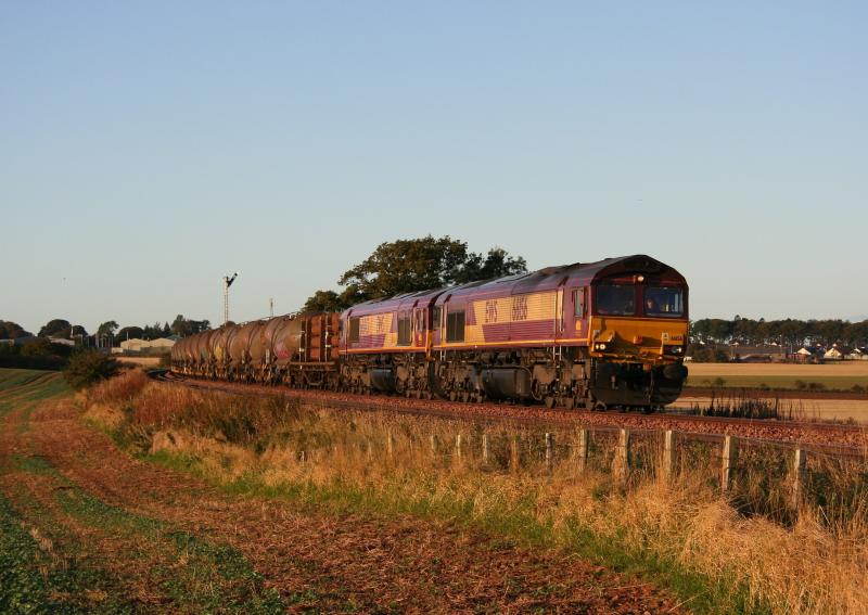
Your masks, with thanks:
[[[868,317],[865,2],[4,2],[0,319],[297,308],[381,242]]]

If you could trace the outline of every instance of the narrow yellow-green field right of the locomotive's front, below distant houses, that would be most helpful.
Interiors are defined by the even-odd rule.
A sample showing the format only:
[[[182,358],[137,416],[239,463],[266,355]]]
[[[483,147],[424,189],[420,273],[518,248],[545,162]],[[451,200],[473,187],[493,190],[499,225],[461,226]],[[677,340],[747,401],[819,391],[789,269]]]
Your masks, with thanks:
[[[816,383],[826,389],[850,390],[854,386],[868,388],[868,361],[840,363],[687,363],[688,387],[719,384],[727,387],[800,388]]]

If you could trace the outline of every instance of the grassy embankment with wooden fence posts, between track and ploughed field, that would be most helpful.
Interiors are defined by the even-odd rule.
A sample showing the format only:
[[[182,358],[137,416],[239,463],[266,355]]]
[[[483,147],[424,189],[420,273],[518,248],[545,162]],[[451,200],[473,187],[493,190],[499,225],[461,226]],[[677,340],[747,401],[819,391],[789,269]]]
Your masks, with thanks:
[[[177,400],[133,405],[132,415],[151,425],[149,454],[224,489],[353,514],[449,518],[535,549],[621,562],[698,612],[868,606],[868,550],[853,549],[868,537],[864,457],[795,456],[784,441],[719,433],[676,436],[667,447],[648,430],[196,384],[161,383],[151,395]],[[219,421],[214,408],[224,409]],[[232,417],[260,412],[280,424],[233,426]]]

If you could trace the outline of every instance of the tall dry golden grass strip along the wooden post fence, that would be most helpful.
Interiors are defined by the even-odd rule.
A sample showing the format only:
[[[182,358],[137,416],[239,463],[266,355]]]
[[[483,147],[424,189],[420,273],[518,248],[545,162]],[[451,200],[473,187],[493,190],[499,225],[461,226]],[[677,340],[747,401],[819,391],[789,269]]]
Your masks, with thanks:
[[[868,612],[864,462],[815,460],[826,465],[815,466],[812,476],[827,484],[812,487],[813,499],[796,515],[783,510],[786,475],[769,479],[781,469],[777,457],[762,451],[744,454],[745,467],[750,460],[760,465],[738,474],[731,498],[723,499],[709,461],[711,445],[685,447],[680,471],[664,479],[658,443],[640,440],[636,470],[622,486],[613,483],[612,438],[605,436],[595,439],[588,466],[579,472],[569,433],[556,435],[554,458],[547,463],[540,435],[527,432],[488,433],[483,459],[480,426],[458,421],[301,408],[155,385],[144,387],[133,407],[129,428],[148,435],[152,452],[194,458],[202,472],[226,484],[352,491],[383,510],[436,511],[502,530],[510,523],[516,531],[537,527],[567,548],[577,533],[590,531],[714,581],[735,580],[748,588],[753,604],[777,613]]]

